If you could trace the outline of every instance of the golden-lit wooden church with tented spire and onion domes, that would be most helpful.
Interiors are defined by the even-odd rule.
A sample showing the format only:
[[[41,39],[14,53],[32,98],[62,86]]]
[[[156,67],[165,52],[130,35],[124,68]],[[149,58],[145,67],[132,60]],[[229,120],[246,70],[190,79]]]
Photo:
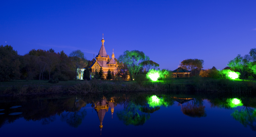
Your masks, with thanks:
[[[93,63],[92,65],[88,68],[91,72],[95,72],[96,70],[100,70],[100,67],[102,67],[103,69],[103,72],[105,74],[107,74],[108,72],[108,69],[111,71],[111,72],[114,72],[116,73],[116,69],[118,67],[117,65],[117,62],[115,60],[115,54],[114,54],[114,49],[113,49],[113,52],[112,52],[112,56],[111,58],[109,57],[109,55],[107,55],[107,52],[105,50],[105,47],[104,47],[104,38],[102,37],[102,45],[100,47],[100,51],[98,53],[98,55],[96,56],[96,60],[93,58]]]

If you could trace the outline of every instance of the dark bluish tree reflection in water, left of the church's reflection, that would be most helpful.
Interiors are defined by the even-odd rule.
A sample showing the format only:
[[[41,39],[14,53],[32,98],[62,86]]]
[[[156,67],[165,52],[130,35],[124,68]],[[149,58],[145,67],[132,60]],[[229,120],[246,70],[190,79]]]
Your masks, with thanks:
[[[84,101],[76,100],[72,108],[69,109],[68,113],[61,114],[61,121],[66,121],[71,127],[78,127],[82,124],[82,120],[86,116],[86,110],[80,111],[81,107],[85,106]]]

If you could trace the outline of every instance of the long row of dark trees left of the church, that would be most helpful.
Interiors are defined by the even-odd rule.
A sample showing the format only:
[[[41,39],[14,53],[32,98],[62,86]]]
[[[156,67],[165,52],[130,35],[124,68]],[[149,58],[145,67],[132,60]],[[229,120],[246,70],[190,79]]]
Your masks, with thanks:
[[[11,45],[0,46],[0,81],[12,79],[43,80],[58,79],[68,81],[76,79],[79,68],[88,65],[84,53],[72,51],[69,56],[62,50],[32,49],[25,55],[19,55]]]

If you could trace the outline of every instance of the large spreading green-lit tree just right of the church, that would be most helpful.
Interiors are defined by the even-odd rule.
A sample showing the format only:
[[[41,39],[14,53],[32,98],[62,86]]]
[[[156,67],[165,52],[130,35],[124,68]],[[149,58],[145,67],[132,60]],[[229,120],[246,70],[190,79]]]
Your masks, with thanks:
[[[131,74],[131,78],[134,79],[134,75],[136,75],[142,68],[142,64],[140,64],[140,62],[149,60],[149,57],[145,56],[142,51],[127,50],[124,51],[123,55],[119,56],[118,60],[124,62],[124,64],[127,65],[128,70]]]

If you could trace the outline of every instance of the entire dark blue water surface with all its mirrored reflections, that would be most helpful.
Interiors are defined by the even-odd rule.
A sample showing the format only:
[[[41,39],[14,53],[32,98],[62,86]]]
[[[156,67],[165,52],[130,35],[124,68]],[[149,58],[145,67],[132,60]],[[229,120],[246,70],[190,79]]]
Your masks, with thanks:
[[[255,106],[189,95],[4,98],[0,136],[255,136]]]

